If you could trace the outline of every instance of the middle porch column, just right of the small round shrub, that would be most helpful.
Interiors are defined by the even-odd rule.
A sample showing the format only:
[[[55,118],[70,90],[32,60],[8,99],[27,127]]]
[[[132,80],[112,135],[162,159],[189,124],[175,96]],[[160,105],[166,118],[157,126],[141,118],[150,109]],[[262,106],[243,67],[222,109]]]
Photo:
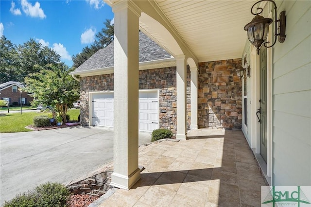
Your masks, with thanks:
[[[176,59],[176,93],[177,93],[177,139],[187,138],[187,59],[177,55]]]

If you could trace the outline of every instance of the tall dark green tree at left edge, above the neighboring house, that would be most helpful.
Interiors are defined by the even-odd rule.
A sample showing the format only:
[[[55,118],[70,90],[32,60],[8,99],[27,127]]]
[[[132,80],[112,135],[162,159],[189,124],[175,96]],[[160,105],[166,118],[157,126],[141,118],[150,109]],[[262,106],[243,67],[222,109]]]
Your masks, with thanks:
[[[0,83],[20,81],[17,64],[17,47],[4,35],[0,38]]]

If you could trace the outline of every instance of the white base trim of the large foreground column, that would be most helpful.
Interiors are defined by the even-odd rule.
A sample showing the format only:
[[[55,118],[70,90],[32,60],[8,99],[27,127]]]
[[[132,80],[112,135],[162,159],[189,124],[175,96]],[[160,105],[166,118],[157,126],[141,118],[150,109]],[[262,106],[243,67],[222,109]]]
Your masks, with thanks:
[[[111,186],[130,190],[140,179],[140,169],[137,168],[132,174],[129,176],[122,175],[119,173],[112,173],[111,174]]]

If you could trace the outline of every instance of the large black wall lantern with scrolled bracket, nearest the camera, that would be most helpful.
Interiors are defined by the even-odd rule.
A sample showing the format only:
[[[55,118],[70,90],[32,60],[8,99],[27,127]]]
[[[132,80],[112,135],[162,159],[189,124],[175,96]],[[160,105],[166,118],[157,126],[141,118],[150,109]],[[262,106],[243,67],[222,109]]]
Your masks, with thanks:
[[[276,3],[273,0],[259,0],[256,2],[252,8],[251,8],[251,13],[253,15],[256,15],[251,22],[245,25],[244,30],[247,31],[247,37],[248,40],[255,46],[257,47],[257,54],[259,54],[259,50],[261,45],[265,46],[266,48],[271,48],[276,44],[276,36],[278,36],[278,41],[279,42],[284,42],[285,40],[285,29],[286,29],[286,16],[285,16],[285,11],[282,11],[279,15],[279,19],[275,19],[275,40],[274,43],[271,46],[267,46],[268,43],[270,42],[265,42],[267,39],[267,35],[269,32],[269,25],[273,22],[272,18],[264,18],[260,16],[263,12],[263,8],[258,7],[257,11],[258,13],[253,12],[253,8],[256,4],[260,3],[261,1],[270,1],[274,4],[274,11],[275,11],[275,18],[276,18]],[[277,23],[278,27],[277,27]],[[279,33],[277,33],[279,32]]]

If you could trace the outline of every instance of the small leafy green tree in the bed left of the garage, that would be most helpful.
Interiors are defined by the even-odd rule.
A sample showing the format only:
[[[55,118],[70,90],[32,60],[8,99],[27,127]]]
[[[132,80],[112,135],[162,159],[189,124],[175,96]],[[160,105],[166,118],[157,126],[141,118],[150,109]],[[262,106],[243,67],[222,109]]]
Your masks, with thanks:
[[[37,66],[41,70],[31,73],[25,78],[25,91],[34,94],[32,105],[44,104],[55,107],[58,115],[66,121],[68,107],[79,99],[79,82],[69,75],[65,64],[57,66],[49,64],[48,69]]]

